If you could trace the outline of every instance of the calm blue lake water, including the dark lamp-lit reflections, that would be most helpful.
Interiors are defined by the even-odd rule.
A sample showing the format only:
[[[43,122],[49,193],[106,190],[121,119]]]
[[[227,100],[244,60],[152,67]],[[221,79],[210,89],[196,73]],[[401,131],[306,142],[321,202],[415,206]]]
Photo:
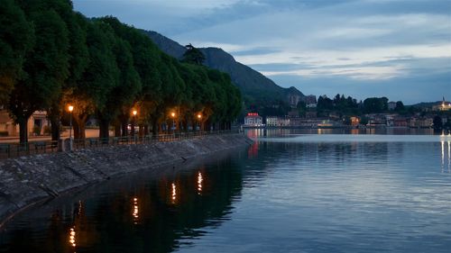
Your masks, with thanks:
[[[23,212],[0,252],[451,252],[451,136],[248,135],[252,147],[182,172],[116,178]]]

